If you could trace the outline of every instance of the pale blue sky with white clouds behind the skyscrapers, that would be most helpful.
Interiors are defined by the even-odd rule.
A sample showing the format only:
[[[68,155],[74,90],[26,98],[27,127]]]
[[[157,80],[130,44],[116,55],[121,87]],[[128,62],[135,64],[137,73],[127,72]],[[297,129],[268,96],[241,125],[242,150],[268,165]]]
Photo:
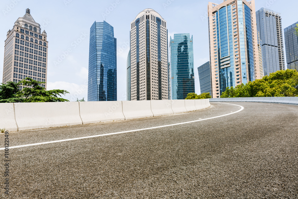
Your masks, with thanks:
[[[223,0],[215,0],[220,4]],[[255,0],[261,7],[281,13],[283,29],[298,21],[295,0]],[[67,90],[63,98],[87,100],[89,34],[94,21],[106,21],[117,38],[117,100],[126,100],[126,61],[130,23],[144,9],[151,8],[167,21],[168,40],[178,33],[193,35],[195,92],[200,94],[197,68],[209,61],[208,1],[203,0],[1,0],[0,61],[4,60],[4,41],[14,22],[26,9],[47,33],[47,90]],[[285,49],[284,49],[285,51]],[[2,82],[3,65],[0,67]]]

